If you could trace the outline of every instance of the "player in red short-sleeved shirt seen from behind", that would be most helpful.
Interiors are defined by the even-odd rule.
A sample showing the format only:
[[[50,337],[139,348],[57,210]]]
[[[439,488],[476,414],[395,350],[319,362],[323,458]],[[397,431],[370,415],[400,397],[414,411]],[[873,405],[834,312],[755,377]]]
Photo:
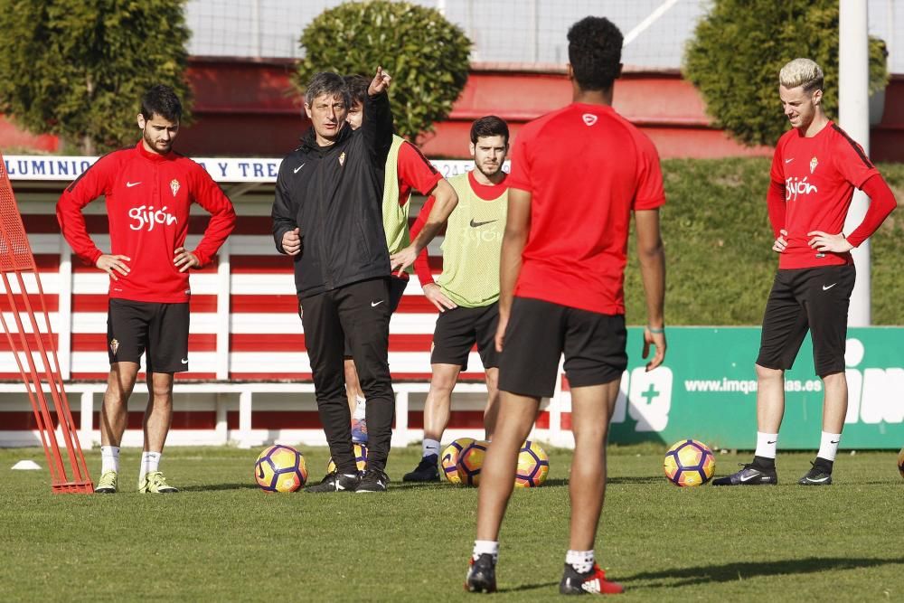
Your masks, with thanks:
[[[481,471],[466,577],[471,591],[495,589],[499,528],[518,450],[541,397],[552,395],[563,352],[575,451],[560,592],[622,591],[599,570],[593,548],[606,490],[609,417],[627,366],[623,280],[632,212],[646,294],[644,356],[655,346],[647,370],[665,355],[663,176],[653,143],[611,106],[622,34],[605,18],[587,17],[568,39],[573,102],[524,126],[512,150],[496,332],[503,393]]]

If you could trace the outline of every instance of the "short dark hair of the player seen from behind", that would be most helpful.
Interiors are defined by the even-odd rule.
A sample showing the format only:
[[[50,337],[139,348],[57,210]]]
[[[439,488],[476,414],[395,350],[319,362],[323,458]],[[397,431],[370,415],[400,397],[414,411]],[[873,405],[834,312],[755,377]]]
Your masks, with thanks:
[[[621,72],[624,38],[606,17],[584,17],[568,31],[568,59],[581,90],[608,90]]]

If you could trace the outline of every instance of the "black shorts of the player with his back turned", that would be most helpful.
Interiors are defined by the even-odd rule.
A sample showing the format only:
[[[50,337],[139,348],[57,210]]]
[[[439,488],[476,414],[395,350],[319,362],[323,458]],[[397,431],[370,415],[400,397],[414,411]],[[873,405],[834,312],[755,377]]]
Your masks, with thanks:
[[[621,379],[627,367],[625,316],[598,314],[540,299],[515,297],[505,327],[499,389],[550,398],[559,359],[572,387]]]

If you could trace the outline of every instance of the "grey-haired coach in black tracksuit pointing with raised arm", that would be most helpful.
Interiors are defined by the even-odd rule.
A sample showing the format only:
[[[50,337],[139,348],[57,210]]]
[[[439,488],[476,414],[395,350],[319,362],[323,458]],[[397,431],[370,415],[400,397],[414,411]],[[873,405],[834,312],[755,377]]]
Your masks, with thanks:
[[[382,169],[392,144],[390,78],[377,69],[363,126],[345,123],[344,80],[318,73],[306,90],[312,127],[279,167],[273,203],[277,249],[295,257],[299,313],[314,373],[317,410],[337,471],[308,492],[386,489],[395,399],[389,348],[390,259],[382,226]],[[357,476],[343,373],[344,334],[364,394],[370,442]]]

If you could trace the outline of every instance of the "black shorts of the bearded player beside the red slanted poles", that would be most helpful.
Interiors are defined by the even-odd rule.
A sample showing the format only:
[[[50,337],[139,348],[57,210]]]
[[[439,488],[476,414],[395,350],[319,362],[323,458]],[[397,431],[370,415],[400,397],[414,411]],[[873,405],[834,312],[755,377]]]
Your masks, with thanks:
[[[110,299],[107,354],[112,363],[140,363],[145,372],[188,371],[188,302],[158,304]]]

